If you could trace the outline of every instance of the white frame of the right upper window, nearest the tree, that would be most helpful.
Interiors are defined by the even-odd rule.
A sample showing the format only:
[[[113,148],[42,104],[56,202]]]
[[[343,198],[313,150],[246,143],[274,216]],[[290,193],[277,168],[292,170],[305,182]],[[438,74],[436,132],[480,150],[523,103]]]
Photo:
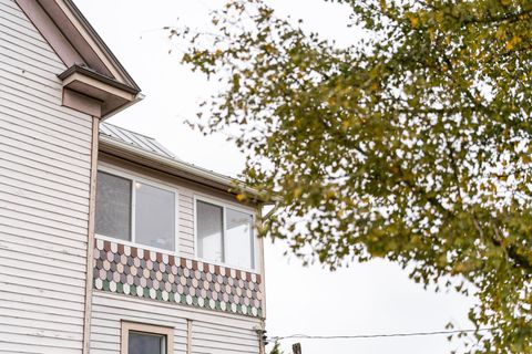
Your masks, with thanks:
[[[245,268],[245,267],[237,267],[237,266],[232,266],[232,264],[228,264],[228,263],[225,263],[225,262],[215,262],[211,259],[205,259],[205,258],[202,258],[198,256],[197,251],[200,249],[198,247],[198,240],[197,240],[197,201],[204,201],[204,202],[208,202],[208,204],[212,204],[212,205],[215,205],[217,207],[221,207],[222,208],[222,218],[223,218],[223,227],[225,229],[225,210],[226,208],[229,208],[229,209],[233,209],[235,211],[241,211],[241,212],[245,212],[245,214],[249,214],[252,216],[252,223],[253,223],[253,264],[255,268]],[[256,221],[256,210],[255,209],[252,209],[252,208],[245,208],[245,207],[242,207],[241,205],[237,205],[237,204],[234,204],[234,202],[231,202],[231,201],[227,201],[227,200],[224,200],[224,199],[219,199],[219,198],[214,198],[214,197],[207,197],[207,196],[204,196],[204,195],[200,195],[200,194],[195,194],[194,195],[194,257],[196,260],[201,261],[201,262],[205,262],[205,263],[208,263],[208,264],[214,264],[214,266],[219,266],[219,267],[225,267],[225,268],[232,268],[232,269],[237,269],[237,270],[243,270],[245,272],[249,272],[249,273],[259,273],[259,259],[258,259],[258,238],[257,238],[257,232],[255,230],[255,221]],[[225,237],[225,230],[224,230],[224,237]],[[224,243],[224,254],[225,254],[225,242]]]

